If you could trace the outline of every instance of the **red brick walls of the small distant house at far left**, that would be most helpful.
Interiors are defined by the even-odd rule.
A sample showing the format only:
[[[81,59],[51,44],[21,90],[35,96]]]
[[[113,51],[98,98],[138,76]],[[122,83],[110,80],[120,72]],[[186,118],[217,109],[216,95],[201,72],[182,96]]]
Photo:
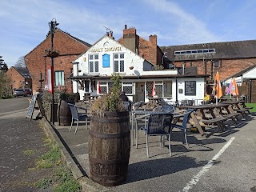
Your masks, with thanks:
[[[22,74],[14,68],[14,66],[10,67],[10,69],[6,71],[6,75],[10,78],[13,90],[18,88],[30,88],[32,85],[31,78],[24,78]]]

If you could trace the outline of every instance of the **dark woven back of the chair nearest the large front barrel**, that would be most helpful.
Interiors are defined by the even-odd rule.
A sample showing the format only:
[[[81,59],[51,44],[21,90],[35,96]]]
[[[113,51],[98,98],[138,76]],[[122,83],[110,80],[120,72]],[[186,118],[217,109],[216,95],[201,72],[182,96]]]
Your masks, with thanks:
[[[173,114],[152,113],[146,125],[146,134],[169,134]]]

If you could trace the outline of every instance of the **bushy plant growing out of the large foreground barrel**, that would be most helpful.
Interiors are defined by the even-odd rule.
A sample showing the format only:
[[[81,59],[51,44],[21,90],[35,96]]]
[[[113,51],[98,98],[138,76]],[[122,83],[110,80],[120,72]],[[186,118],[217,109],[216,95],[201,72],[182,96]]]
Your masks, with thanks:
[[[126,111],[126,107],[120,98],[121,77],[119,74],[114,74],[111,80],[114,82],[113,87],[110,89],[111,93],[104,94],[93,102],[90,107],[91,114],[103,117],[106,111]]]

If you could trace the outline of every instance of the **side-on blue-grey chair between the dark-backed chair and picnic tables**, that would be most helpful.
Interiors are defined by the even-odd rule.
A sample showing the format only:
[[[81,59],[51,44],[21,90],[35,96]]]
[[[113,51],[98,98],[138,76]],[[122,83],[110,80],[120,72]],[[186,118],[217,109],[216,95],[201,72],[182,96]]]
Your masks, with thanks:
[[[178,111],[178,112],[174,113],[174,118],[182,118],[182,124],[179,125],[177,123],[171,123],[171,132],[174,127],[183,131],[187,148],[189,148],[189,145],[188,145],[187,138],[186,138],[186,125],[187,125],[187,122],[189,121],[190,114],[193,111],[194,111],[194,109],[188,109],[188,110],[182,110],[182,111]],[[180,114],[180,113],[182,113],[182,114]]]

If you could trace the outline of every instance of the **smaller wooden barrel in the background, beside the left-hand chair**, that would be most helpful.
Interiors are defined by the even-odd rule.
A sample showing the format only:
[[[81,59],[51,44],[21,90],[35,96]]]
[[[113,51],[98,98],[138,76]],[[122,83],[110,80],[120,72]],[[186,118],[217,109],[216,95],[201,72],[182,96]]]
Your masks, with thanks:
[[[66,102],[62,100],[59,102],[59,110],[58,110],[58,124],[59,126],[70,126],[71,121],[72,121],[72,115],[71,115],[71,110],[70,106],[67,103],[72,103],[74,102]]]

